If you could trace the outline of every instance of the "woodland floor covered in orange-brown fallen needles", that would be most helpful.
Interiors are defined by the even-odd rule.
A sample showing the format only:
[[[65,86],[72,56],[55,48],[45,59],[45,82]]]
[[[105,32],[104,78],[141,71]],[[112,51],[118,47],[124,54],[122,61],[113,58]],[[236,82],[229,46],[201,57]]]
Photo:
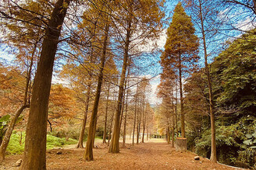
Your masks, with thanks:
[[[61,149],[47,151],[47,169],[241,169],[226,165],[213,164],[206,158],[195,161],[196,154],[177,152],[162,140],[148,141],[144,144],[126,144],[120,148],[119,154],[108,153],[108,146],[96,143],[94,161],[82,159],[84,149],[74,149],[69,145]],[[122,146],[122,144],[120,144]],[[62,154],[56,154],[61,151]],[[9,155],[0,165],[0,169],[19,169],[13,167],[22,155]]]

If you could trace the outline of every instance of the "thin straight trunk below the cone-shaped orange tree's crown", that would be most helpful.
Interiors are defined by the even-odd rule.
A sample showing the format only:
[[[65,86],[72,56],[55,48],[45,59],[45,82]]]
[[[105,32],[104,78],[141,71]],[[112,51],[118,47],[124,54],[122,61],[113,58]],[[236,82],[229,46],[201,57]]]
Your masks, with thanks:
[[[180,122],[181,122],[181,137],[185,137],[185,116],[183,111],[183,87],[182,87],[182,68],[181,54],[179,54],[179,78],[180,78]]]

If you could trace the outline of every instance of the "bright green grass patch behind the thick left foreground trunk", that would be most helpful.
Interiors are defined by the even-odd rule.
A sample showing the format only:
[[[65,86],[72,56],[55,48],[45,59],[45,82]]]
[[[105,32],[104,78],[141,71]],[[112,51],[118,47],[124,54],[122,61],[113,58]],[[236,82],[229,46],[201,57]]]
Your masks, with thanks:
[[[9,145],[6,149],[7,154],[22,154],[25,145],[25,133],[22,134],[22,143],[20,144],[20,132],[13,132],[9,141]],[[53,149],[55,147],[63,147],[64,145],[76,144],[77,141],[69,138],[66,141],[65,138],[54,137],[52,135],[47,135],[47,149]]]

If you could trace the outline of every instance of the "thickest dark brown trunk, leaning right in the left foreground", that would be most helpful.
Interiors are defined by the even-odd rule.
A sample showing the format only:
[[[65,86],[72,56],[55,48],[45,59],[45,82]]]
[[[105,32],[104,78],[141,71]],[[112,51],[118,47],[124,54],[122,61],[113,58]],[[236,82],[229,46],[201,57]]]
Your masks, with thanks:
[[[27,122],[25,149],[20,169],[46,169],[46,134],[48,100],[52,71],[66,7],[70,0],[55,3],[44,35],[40,61],[34,78],[30,115]],[[64,3],[66,5],[64,5]]]

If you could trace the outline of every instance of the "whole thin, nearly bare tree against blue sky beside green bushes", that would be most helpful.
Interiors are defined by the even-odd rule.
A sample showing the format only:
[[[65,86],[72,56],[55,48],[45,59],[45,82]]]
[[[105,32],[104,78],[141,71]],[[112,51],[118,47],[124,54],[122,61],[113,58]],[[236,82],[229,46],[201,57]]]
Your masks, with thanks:
[[[218,19],[216,19],[216,13],[218,12],[215,9],[215,5],[212,5],[212,2],[208,0],[198,0],[198,1],[187,1],[190,9],[195,12],[194,22],[197,23],[197,26],[200,28],[201,39],[203,40],[203,49],[204,49],[204,71],[207,77],[208,82],[208,102],[209,102],[209,114],[211,117],[211,129],[212,129],[212,153],[211,160],[217,162],[216,154],[216,140],[215,140],[215,106],[213,103],[213,92],[212,92],[212,76],[210,74],[210,67],[208,65],[208,58],[211,55],[209,51],[210,47],[213,47],[213,42],[216,40],[216,33],[218,32],[221,22],[218,22],[219,26],[216,26]],[[209,5],[211,4],[211,8]]]

